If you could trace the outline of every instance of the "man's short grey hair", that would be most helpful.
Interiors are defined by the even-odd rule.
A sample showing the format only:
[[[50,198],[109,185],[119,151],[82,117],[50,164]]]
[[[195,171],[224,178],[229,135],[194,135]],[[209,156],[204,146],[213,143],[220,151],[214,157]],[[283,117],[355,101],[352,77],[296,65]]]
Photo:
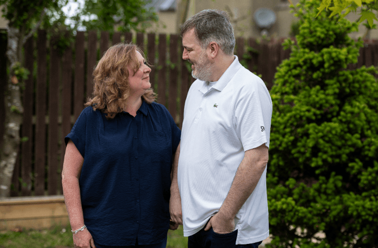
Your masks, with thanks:
[[[203,10],[189,18],[182,26],[180,35],[194,28],[194,33],[205,49],[211,42],[216,42],[227,55],[234,54],[234,29],[227,12],[221,10]]]

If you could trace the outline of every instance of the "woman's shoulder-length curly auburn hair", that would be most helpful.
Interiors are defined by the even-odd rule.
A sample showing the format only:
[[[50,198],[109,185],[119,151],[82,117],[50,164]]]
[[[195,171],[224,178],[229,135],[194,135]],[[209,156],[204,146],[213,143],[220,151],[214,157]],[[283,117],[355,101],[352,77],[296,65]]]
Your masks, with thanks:
[[[99,109],[107,114],[107,119],[113,119],[123,111],[124,102],[130,95],[128,66],[134,74],[140,66],[137,51],[146,59],[143,51],[132,43],[118,43],[105,52],[93,72],[93,97],[86,107],[92,106],[94,111]],[[151,104],[156,94],[148,89],[142,98]]]

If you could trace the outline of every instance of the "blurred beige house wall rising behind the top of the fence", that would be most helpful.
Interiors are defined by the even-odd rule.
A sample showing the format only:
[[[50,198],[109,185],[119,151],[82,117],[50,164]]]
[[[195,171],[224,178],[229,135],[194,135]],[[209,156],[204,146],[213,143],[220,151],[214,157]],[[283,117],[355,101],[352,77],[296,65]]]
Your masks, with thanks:
[[[177,0],[178,4],[181,0]],[[299,0],[292,0],[294,5]],[[234,25],[235,36],[261,37],[261,29],[256,25],[254,13],[259,8],[268,8],[274,11],[276,22],[268,29],[272,38],[288,37],[291,25],[297,21],[297,17],[290,13],[287,0],[190,0],[187,19],[205,9],[220,9],[230,13]],[[154,25],[155,32],[176,33],[177,27],[176,12],[159,12],[159,24]],[[346,17],[350,21],[356,21],[359,15],[350,13]],[[352,38],[363,37],[366,34],[366,27],[359,25],[359,31],[351,33]],[[378,29],[371,30],[366,38],[377,39]]]

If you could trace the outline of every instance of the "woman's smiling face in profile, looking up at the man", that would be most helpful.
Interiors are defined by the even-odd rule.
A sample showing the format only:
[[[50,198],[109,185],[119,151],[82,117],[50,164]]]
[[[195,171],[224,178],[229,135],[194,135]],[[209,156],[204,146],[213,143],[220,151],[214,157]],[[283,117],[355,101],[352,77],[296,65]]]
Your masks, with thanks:
[[[140,94],[141,96],[146,90],[151,88],[150,72],[151,68],[147,66],[143,56],[136,51],[136,56],[139,61],[139,69],[135,72],[128,66],[129,69],[129,86],[131,94]]]

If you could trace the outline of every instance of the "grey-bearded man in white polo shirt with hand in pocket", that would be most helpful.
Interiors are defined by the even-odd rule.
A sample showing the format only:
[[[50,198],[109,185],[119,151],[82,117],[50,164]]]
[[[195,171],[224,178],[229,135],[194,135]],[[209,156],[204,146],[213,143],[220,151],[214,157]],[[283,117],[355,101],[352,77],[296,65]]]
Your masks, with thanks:
[[[171,219],[183,223],[188,248],[258,247],[269,236],[269,92],[233,55],[226,12],[199,12],[181,35],[197,80],[185,101]]]

